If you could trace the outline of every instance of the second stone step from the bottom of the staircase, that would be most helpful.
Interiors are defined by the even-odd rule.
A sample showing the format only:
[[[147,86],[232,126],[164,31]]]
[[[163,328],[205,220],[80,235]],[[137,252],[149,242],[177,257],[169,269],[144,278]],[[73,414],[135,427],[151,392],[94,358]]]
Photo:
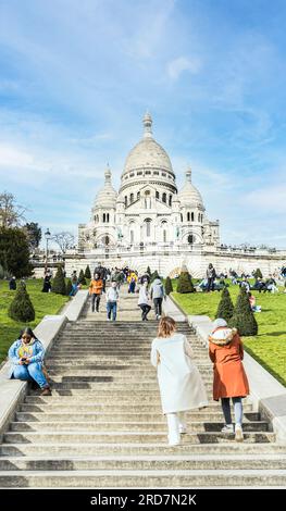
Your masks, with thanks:
[[[286,454],[236,456],[86,456],[5,457],[0,471],[94,471],[94,470],[286,470]]]

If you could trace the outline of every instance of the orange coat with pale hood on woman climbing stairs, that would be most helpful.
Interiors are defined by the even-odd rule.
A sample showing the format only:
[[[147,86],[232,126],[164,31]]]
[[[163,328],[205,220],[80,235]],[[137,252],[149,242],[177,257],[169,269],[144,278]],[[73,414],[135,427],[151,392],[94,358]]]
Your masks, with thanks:
[[[209,342],[209,356],[214,364],[213,399],[248,396],[249,385],[241,362],[244,347],[236,328],[216,328]]]

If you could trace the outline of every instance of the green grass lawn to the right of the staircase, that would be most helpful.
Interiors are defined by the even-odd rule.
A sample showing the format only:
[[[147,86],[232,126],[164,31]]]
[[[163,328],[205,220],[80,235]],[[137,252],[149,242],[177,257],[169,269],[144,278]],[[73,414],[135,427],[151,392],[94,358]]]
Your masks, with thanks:
[[[173,288],[176,284],[173,282]],[[238,286],[229,286],[235,303]],[[256,313],[259,333],[244,337],[246,350],[283,385],[286,385],[286,294],[272,295],[252,291],[262,312]],[[206,314],[214,320],[221,292],[194,292],[190,295],[172,294],[174,300],[187,314]]]

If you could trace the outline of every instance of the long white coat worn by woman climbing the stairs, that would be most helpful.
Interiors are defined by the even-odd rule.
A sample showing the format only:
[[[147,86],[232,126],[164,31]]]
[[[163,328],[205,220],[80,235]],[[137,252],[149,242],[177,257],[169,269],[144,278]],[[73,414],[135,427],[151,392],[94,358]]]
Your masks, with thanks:
[[[192,350],[183,334],[153,339],[151,363],[158,369],[163,413],[208,406],[207,391],[191,357]]]

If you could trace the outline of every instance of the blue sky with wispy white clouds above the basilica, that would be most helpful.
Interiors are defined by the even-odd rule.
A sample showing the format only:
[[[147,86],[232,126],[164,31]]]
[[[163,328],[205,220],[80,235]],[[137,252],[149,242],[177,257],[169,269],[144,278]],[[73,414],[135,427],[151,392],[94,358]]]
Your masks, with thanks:
[[[286,247],[284,0],[0,0],[0,190],[89,220],[153,116],[226,244]]]

